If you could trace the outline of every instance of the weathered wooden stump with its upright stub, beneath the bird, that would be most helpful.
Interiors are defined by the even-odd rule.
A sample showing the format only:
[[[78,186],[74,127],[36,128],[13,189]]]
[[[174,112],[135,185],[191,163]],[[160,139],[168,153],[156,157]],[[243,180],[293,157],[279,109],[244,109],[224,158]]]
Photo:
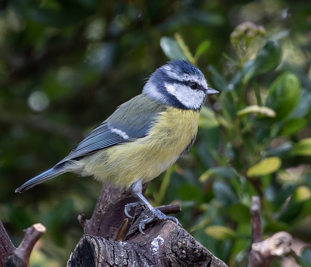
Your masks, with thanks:
[[[138,230],[139,222],[152,214],[137,208],[136,219],[126,219],[124,205],[135,201],[130,193],[103,185],[92,218],[78,218],[85,235],[70,255],[67,267],[226,267],[224,262],[172,221],[158,220],[148,224],[144,230],[146,235],[142,235]],[[164,213],[180,212],[179,204],[159,208]],[[117,242],[125,233],[125,240]]]

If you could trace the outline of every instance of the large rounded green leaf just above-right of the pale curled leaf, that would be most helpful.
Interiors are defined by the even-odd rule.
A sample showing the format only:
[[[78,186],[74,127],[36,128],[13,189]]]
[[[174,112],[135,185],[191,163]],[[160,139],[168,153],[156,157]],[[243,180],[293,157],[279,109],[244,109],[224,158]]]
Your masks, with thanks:
[[[283,73],[268,89],[265,106],[276,111],[273,121],[279,121],[290,115],[300,99],[300,81],[293,73]]]

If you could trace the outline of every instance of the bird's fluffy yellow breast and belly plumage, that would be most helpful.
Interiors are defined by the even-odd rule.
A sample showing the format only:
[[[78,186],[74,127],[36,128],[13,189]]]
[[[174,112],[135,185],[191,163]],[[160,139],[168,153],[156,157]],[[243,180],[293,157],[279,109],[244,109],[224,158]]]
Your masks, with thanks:
[[[168,107],[146,137],[84,157],[72,171],[116,188],[129,188],[138,179],[149,182],[171,167],[194,140],[198,121],[199,111]]]

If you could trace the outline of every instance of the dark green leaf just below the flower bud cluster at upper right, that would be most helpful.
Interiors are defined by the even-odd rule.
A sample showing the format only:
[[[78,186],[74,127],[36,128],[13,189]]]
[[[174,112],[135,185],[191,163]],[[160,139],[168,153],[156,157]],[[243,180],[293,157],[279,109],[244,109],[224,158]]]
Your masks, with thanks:
[[[280,63],[282,48],[277,41],[268,40],[267,43],[259,50],[249,72],[245,75],[247,82],[252,77],[274,70]]]

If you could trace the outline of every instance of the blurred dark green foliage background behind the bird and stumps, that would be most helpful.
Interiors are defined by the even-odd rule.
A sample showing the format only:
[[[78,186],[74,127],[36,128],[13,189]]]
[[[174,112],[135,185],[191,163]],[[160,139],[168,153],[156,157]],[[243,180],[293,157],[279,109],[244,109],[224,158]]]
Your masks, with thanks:
[[[185,229],[242,267],[259,195],[264,236],[288,231],[297,261],[311,266],[310,0],[1,0],[0,220],[16,246],[24,228],[47,227],[32,266],[65,266],[83,234],[76,218],[91,216],[101,185],[66,173],[15,188],[173,58],[196,64],[220,94],[202,110],[190,153],[149,185],[148,199],[179,201]]]

